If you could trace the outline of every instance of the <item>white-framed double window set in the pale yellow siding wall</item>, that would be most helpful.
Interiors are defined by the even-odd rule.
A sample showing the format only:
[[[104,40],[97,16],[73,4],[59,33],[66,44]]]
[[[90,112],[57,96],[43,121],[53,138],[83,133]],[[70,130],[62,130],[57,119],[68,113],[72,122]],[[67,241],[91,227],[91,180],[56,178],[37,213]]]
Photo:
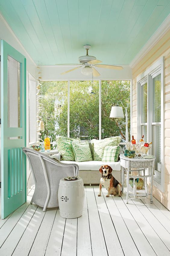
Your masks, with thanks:
[[[139,140],[152,142],[150,154],[156,157],[154,185],[163,191],[164,183],[164,107],[163,58],[137,77],[137,125]]]

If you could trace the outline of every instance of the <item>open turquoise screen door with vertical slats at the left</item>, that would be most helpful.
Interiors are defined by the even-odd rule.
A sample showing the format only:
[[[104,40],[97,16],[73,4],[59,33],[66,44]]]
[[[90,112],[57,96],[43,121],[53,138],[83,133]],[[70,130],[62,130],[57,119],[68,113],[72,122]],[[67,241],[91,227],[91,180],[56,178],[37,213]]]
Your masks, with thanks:
[[[1,40],[1,184],[4,219],[26,202],[26,58]]]

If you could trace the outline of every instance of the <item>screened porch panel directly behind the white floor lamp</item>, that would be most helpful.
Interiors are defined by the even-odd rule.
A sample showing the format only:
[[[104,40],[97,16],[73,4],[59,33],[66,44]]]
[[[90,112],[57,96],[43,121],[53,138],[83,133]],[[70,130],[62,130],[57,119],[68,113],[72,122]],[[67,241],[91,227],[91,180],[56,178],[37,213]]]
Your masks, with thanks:
[[[130,81],[128,80],[102,80],[102,139],[111,136],[121,136],[125,139],[125,109],[122,106],[130,103]],[[119,100],[122,101],[118,102]],[[111,107],[116,104],[123,107],[124,118],[109,118]],[[128,133],[130,138],[130,104],[128,107]]]

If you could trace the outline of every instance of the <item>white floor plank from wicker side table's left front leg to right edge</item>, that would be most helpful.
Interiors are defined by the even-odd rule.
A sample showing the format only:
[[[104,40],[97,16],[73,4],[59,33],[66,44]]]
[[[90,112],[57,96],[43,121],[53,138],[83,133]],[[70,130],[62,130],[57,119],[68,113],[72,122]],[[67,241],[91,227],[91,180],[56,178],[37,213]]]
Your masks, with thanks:
[[[162,224],[157,220],[157,218],[150,212],[150,210],[143,204],[143,202],[139,199],[133,199],[134,204],[146,218],[146,220],[150,223],[155,232],[159,235],[161,240],[170,250],[170,234],[169,232],[162,226]]]

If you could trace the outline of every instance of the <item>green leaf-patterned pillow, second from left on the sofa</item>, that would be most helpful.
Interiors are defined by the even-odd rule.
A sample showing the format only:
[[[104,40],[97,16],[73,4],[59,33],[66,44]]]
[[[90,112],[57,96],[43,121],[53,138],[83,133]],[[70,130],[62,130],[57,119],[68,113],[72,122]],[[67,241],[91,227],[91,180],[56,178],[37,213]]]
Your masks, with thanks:
[[[88,141],[85,141],[83,143],[71,141],[71,146],[74,152],[76,162],[93,160]]]

